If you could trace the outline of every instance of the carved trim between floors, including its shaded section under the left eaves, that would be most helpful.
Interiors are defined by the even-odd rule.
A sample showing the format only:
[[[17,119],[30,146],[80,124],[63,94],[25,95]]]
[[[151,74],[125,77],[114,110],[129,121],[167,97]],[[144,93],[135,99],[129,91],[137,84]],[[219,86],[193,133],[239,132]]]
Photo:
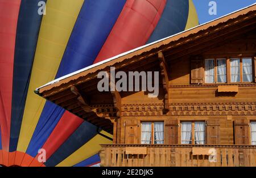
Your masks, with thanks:
[[[256,116],[256,103],[172,103],[169,108],[164,113],[160,103],[123,104],[120,116]],[[113,104],[90,105],[89,110],[112,122],[119,117]]]

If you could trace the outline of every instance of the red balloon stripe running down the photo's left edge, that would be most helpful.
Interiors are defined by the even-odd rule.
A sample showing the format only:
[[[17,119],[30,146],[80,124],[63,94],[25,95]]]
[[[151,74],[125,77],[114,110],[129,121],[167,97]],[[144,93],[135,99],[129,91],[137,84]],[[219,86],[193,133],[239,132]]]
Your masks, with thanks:
[[[16,27],[20,0],[0,1],[0,125],[2,149],[9,151]]]

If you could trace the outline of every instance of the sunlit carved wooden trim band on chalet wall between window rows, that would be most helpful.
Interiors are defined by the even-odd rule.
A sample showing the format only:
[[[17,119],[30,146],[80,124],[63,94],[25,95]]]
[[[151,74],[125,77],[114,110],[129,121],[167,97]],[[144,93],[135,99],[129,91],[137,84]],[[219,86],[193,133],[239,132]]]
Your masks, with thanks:
[[[256,103],[184,103],[171,104],[163,113],[163,104],[124,105],[122,116],[255,116]]]

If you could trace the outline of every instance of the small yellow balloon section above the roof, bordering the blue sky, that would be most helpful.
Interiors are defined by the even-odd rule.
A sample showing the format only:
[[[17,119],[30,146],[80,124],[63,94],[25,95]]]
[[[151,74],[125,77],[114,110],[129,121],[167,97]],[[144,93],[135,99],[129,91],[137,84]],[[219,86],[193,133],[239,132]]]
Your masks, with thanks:
[[[187,20],[187,25],[185,27],[186,29],[193,28],[198,26],[198,16],[196,12],[196,7],[193,3],[192,0],[189,0],[189,10],[188,10],[188,20]]]

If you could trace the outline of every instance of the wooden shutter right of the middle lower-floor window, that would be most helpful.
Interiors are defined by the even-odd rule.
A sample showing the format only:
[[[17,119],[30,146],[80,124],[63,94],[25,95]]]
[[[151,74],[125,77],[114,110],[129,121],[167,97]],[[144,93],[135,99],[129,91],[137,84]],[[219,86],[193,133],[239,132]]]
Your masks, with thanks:
[[[220,122],[218,120],[207,121],[207,144],[220,144]]]

